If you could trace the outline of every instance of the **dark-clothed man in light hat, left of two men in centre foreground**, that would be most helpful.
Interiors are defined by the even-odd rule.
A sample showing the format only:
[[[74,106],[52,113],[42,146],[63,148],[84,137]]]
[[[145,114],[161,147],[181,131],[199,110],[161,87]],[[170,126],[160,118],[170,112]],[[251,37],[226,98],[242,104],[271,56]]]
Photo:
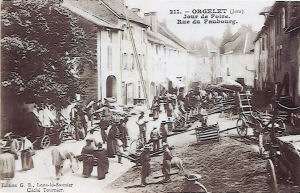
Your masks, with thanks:
[[[148,177],[150,175],[151,172],[151,168],[150,168],[150,146],[149,145],[145,145],[144,147],[144,151],[141,153],[140,155],[140,162],[142,165],[142,169],[141,169],[141,176],[142,176],[142,180],[141,180],[141,186],[145,187],[146,184],[146,177]]]

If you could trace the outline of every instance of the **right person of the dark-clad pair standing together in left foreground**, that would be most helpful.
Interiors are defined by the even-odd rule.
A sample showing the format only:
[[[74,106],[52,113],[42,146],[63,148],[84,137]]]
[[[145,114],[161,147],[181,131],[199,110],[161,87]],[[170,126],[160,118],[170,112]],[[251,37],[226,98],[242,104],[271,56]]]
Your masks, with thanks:
[[[98,149],[95,150],[94,156],[97,158],[98,180],[102,180],[108,173],[109,161],[107,158],[107,151],[106,149],[102,148],[101,143],[98,144]]]

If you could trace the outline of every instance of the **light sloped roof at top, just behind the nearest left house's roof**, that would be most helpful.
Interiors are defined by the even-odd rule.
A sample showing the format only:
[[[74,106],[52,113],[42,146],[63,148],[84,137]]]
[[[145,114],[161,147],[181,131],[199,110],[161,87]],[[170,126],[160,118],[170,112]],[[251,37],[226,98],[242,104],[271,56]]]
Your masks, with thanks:
[[[130,9],[126,8],[124,4],[120,1],[116,0],[100,0],[105,5],[107,5],[112,11],[114,11],[119,18],[126,19],[126,15],[128,20],[134,21],[143,25],[147,25],[145,20],[138,16],[136,13],[132,12]]]

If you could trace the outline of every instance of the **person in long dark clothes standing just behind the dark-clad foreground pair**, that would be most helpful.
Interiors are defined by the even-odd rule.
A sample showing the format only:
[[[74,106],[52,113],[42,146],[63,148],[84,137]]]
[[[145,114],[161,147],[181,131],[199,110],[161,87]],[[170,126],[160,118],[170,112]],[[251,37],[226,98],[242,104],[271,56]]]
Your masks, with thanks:
[[[118,123],[115,123],[111,126],[108,136],[107,136],[107,154],[108,157],[115,157],[116,154],[116,136],[120,136],[120,131],[117,127]]]

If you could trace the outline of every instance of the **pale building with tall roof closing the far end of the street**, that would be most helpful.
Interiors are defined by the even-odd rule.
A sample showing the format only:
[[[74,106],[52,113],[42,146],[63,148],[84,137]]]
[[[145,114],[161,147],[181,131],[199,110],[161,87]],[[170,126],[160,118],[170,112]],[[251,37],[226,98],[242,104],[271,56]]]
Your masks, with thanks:
[[[224,79],[236,80],[247,86],[254,86],[255,65],[253,40],[256,33],[251,27],[242,27],[225,42],[223,51],[213,59],[213,82]]]

